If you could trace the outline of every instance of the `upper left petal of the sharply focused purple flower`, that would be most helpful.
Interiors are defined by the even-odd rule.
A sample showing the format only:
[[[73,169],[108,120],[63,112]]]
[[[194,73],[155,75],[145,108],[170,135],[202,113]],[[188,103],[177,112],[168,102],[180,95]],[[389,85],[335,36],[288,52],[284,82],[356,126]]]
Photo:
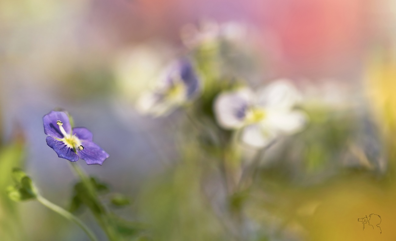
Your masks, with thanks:
[[[57,121],[61,121],[63,123],[62,127],[67,133],[70,133],[72,128],[70,126],[69,117],[62,111],[51,111],[47,115],[44,115],[44,133],[48,136],[63,138],[63,134],[56,124]]]

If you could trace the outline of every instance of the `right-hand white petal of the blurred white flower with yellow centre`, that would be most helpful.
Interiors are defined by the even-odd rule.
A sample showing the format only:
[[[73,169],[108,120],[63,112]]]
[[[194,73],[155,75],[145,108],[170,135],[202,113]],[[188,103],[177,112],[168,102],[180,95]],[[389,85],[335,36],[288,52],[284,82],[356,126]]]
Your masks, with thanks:
[[[282,134],[295,134],[308,122],[308,117],[303,111],[270,111],[264,124]]]

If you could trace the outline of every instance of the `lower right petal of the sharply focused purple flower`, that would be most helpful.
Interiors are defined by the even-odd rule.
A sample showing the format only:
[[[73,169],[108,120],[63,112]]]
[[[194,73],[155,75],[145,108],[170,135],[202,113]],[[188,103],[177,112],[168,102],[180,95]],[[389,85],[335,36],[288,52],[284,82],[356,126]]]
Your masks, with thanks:
[[[102,165],[106,158],[109,157],[103,149],[92,141],[82,141],[83,150],[77,151],[78,156],[84,159],[88,165],[99,164]]]

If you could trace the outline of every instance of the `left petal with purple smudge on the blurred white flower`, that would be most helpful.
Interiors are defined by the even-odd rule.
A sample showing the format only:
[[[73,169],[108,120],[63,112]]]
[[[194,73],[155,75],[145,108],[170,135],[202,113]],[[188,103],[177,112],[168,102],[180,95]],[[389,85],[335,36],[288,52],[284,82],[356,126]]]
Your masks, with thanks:
[[[253,92],[242,88],[233,92],[224,92],[217,96],[214,110],[217,122],[227,129],[240,128],[244,125],[245,111],[251,104]]]

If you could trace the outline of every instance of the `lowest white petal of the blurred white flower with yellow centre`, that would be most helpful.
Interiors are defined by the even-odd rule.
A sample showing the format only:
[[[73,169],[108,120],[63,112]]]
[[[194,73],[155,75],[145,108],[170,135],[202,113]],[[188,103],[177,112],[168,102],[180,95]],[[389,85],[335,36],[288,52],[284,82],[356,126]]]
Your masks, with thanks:
[[[261,124],[252,124],[242,130],[242,141],[252,147],[265,147],[275,138],[275,133]]]

